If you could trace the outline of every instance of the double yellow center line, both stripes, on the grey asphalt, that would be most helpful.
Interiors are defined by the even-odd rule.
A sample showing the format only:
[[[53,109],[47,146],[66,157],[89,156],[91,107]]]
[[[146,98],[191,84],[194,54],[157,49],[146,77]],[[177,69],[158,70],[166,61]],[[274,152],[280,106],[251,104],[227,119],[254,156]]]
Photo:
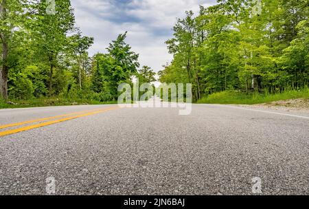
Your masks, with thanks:
[[[69,114],[65,114],[65,115],[56,115],[54,117],[49,117],[49,118],[40,118],[40,119],[36,119],[36,120],[28,120],[28,121],[24,121],[24,122],[17,122],[17,123],[14,123],[14,124],[5,124],[5,125],[1,125],[0,129],[10,128],[10,127],[14,127],[14,126],[21,126],[23,124],[30,124],[30,123],[34,123],[34,122],[43,122],[43,121],[47,121],[47,120],[52,120],[52,121],[49,121],[49,122],[43,122],[43,123],[31,125],[31,126],[23,126],[19,129],[2,131],[2,132],[0,132],[0,137],[4,136],[4,135],[10,135],[10,134],[13,134],[13,133],[19,133],[21,131],[28,131],[28,130],[31,130],[31,129],[40,128],[40,127],[43,127],[43,126],[49,126],[51,124],[56,124],[56,123],[64,122],[64,121],[67,121],[67,120],[73,120],[73,119],[76,119],[76,118],[82,118],[82,117],[89,116],[89,115],[104,113],[106,111],[111,111],[111,110],[115,110],[115,109],[119,109],[119,107],[111,107],[111,108],[108,108],[108,109],[93,109],[91,111],[89,111],[89,110],[88,111],[81,111],[81,112],[69,113]],[[63,118],[63,117],[66,117],[66,116],[71,116],[71,117]],[[53,119],[56,119],[56,118],[60,118],[60,119],[53,120]]]

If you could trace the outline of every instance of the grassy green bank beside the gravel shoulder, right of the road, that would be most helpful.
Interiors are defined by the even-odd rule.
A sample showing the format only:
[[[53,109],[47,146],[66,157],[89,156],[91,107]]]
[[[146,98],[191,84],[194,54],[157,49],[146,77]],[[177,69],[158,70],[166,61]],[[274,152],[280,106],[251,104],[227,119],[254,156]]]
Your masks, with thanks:
[[[240,91],[222,91],[211,94],[201,100],[198,104],[262,104],[279,100],[291,100],[297,98],[309,98],[309,89],[289,90],[278,94],[246,94]]]

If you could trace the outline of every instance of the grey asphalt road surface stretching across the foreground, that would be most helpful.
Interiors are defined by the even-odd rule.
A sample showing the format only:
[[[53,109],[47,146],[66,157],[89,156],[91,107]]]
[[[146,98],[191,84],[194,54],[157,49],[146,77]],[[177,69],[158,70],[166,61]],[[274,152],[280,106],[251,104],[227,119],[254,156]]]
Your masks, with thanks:
[[[80,118],[0,137],[0,195],[309,195],[309,115],[194,104],[0,110],[4,124]],[[111,109],[90,115],[93,112]],[[0,129],[0,134],[59,118]]]

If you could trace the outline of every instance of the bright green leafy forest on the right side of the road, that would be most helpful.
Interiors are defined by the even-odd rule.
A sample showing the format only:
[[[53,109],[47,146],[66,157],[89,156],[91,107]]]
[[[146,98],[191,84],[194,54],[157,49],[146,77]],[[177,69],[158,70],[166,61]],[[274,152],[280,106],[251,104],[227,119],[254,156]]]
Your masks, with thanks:
[[[308,17],[306,0],[218,0],[188,11],[166,41],[174,59],[159,80],[192,83],[195,101],[223,91],[308,94]]]

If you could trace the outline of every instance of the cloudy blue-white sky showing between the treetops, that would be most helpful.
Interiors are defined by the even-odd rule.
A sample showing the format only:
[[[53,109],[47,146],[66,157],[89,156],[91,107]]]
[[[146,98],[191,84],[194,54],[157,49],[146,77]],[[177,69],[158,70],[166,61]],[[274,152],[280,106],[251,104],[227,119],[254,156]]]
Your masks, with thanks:
[[[172,38],[176,17],[198,5],[214,5],[216,0],[71,0],[77,26],[95,43],[91,55],[105,48],[118,34],[128,31],[127,43],[139,54],[139,63],[158,72],[172,60],[165,41]]]

